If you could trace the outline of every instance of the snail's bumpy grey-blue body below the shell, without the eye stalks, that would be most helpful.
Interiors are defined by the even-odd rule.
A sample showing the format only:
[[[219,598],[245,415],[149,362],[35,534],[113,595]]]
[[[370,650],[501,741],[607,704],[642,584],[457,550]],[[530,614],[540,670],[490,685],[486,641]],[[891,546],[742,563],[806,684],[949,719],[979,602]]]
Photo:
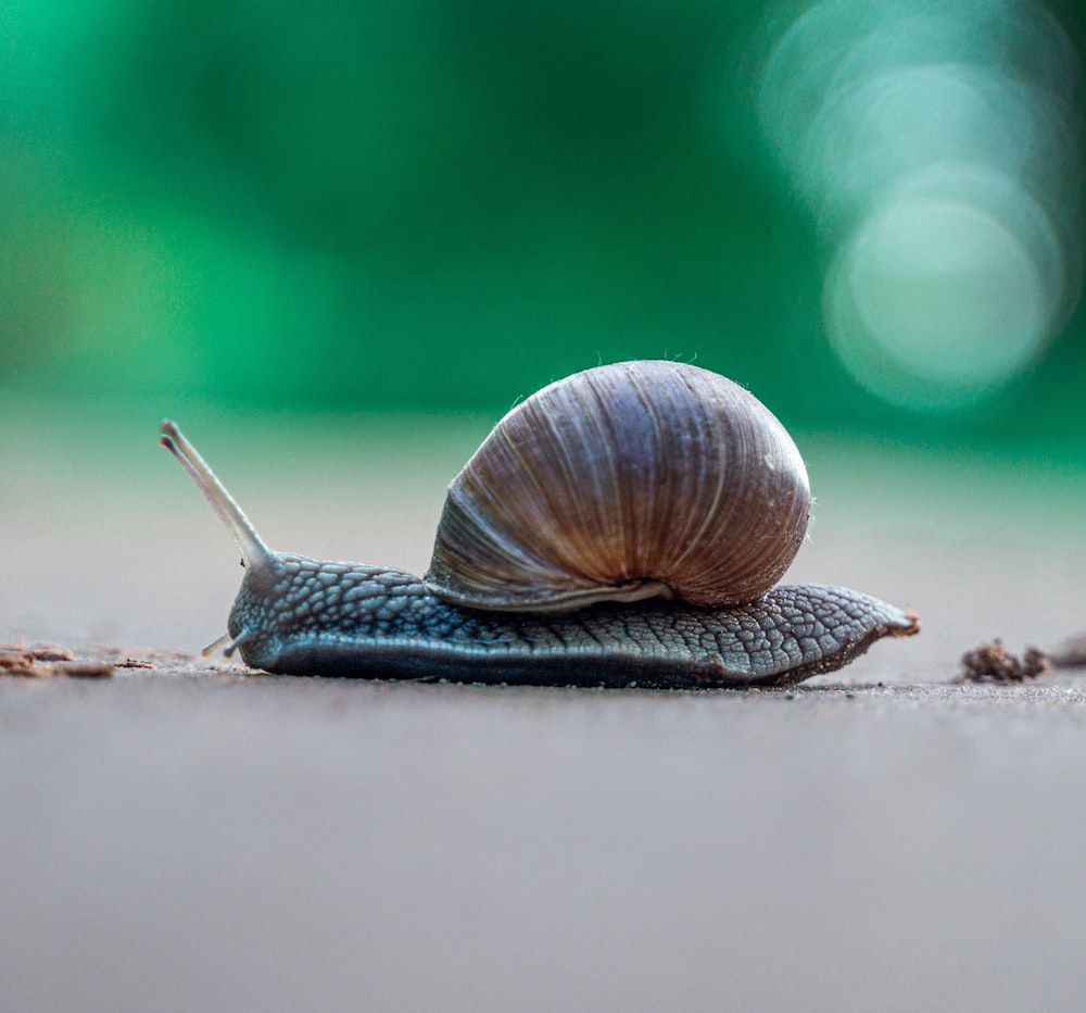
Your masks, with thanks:
[[[247,570],[229,620],[245,663],[277,674],[668,689],[792,685],[918,628],[912,612],[820,585],[718,609],[488,613],[403,571],[285,553]]]

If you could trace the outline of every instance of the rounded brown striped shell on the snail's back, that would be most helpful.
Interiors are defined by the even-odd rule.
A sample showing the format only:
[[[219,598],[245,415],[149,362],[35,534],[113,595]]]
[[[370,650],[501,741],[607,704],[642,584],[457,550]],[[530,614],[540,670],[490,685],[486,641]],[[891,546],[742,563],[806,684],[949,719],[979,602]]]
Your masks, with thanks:
[[[449,487],[424,580],[479,609],[738,604],[781,578],[809,514],[799,451],[753,395],[684,363],[616,363],[494,427]]]

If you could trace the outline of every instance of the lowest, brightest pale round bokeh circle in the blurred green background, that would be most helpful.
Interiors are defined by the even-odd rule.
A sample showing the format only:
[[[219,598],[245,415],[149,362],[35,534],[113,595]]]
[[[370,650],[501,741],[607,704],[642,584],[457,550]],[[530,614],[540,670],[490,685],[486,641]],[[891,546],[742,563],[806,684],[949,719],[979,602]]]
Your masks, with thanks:
[[[1047,336],[1044,284],[1027,250],[988,212],[945,198],[898,201],[866,221],[824,292],[842,363],[899,404],[965,407]]]

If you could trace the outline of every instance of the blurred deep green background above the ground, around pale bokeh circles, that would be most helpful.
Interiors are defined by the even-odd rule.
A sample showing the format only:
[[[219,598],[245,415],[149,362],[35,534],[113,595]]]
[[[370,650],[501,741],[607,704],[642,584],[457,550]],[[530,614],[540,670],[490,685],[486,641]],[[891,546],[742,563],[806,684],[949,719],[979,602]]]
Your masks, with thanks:
[[[9,0],[0,390],[500,411],[597,362],[680,358],[810,428],[1086,442],[1073,293],[954,410],[842,364],[822,288],[843,234],[759,123],[766,61],[812,5]],[[1081,53],[1079,4],[1049,10]],[[1064,70],[1031,86],[1077,109]],[[1066,143],[1071,197],[1046,210],[1073,288]]]

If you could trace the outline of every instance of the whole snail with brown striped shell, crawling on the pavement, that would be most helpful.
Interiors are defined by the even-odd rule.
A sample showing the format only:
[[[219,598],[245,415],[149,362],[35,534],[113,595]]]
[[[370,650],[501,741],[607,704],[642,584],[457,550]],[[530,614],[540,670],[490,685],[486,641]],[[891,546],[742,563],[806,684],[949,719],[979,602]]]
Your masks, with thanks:
[[[272,551],[177,426],[162,434],[245,567],[205,653],[266,672],[782,686],[919,629],[858,591],[774,586],[807,531],[803,459],[753,395],[696,366],[598,366],[514,408],[450,485],[421,580]]]

